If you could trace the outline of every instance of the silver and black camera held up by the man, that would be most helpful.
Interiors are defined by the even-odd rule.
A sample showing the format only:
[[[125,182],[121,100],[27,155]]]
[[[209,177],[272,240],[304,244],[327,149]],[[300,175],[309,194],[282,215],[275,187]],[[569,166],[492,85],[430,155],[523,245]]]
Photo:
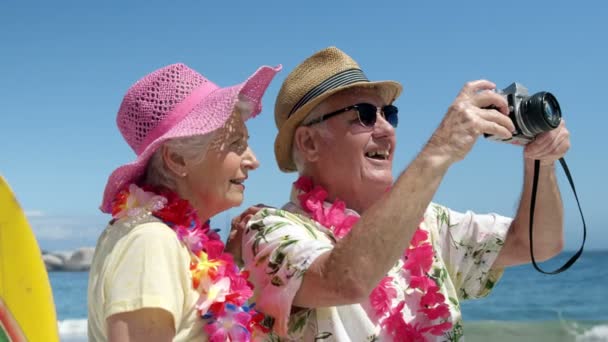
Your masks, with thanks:
[[[528,96],[528,89],[519,83],[513,83],[497,92],[505,96],[509,103],[509,118],[515,125],[515,132],[509,139],[500,139],[489,134],[485,134],[486,138],[525,145],[534,140],[537,134],[559,126],[562,112],[553,94],[541,91]]]

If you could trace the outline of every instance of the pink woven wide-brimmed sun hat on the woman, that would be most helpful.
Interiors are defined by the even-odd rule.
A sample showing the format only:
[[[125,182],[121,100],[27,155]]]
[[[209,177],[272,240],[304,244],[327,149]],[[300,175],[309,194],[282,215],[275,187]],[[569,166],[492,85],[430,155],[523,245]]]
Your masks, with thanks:
[[[137,159],[108,178],[101,211],[110,213],[116,194],[143,174],[148,160],[168,139],[203,135],[224,125],[239,97],[251,102],[252,118],[281,65],[262,66],[245,82],[221,88],[184,64],[158,69],[137,81],[125,95],[116,124]]]

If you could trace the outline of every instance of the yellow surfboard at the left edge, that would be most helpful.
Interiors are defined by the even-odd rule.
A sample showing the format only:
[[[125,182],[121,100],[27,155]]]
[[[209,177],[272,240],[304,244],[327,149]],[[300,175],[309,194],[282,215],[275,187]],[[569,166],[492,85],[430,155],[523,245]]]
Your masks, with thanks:
[[[0,176],[0,342],[59,341],[49,277],[34,233]]]

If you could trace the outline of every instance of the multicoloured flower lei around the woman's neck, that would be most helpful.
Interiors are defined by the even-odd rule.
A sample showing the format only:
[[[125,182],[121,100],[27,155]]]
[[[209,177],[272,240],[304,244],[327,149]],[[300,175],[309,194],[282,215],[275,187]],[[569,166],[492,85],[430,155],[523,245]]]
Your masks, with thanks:
[[[201,224],[190,203],[176,193],[149,186],[129,185],[112,202],[112,217],[140,217],[151,213],[175,231],[191,256],[192,286],[200,293],[198,315],[206,322],[211,342],[250,341],[264,315],[247,305],[253,286],[240,272],[209,222]]]

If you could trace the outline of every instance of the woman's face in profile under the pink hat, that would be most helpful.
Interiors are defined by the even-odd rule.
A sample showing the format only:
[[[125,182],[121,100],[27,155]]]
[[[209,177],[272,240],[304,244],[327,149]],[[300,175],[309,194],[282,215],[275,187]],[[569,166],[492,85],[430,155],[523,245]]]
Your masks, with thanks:
[[[260,165],[248,139],[245,122],[236,112],[215,132],[202,161],[185,161],[186,191],[201,219],[243,202],[248,173]]]

